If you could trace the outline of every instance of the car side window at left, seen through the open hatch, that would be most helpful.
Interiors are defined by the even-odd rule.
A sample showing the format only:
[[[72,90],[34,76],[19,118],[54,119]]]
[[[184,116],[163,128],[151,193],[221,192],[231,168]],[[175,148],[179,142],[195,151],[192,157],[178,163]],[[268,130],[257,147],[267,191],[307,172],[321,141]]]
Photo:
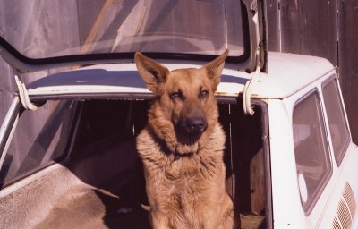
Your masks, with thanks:
[[[21,113],[0,170],[0,188],[65,156],[75,102],[47,101]]]

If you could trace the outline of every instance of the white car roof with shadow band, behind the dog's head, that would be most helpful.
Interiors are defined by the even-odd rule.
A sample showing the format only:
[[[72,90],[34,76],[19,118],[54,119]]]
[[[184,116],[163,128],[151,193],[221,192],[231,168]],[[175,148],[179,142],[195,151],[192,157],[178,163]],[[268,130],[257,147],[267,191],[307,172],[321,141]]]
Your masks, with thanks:
[[[286,98],[320,79],[335,67],[328,60],[308,55],[268,53],[268,72],[260,72],[259,81],[254,85],[251,98]],[[162,63],[169,70],[199,68],[202,63]],[[233,64],[226,64],[218,96],[237,97],[253,73],[240,72]],[[99,95],[131,96],[133,93],[151,94],[141,80],[136,66],[130,64],[96,64],[78,70],[55,73],[33,81],[28,86],[30,98],[98,98]],[[102,97],[103,98],[103,97]]]

